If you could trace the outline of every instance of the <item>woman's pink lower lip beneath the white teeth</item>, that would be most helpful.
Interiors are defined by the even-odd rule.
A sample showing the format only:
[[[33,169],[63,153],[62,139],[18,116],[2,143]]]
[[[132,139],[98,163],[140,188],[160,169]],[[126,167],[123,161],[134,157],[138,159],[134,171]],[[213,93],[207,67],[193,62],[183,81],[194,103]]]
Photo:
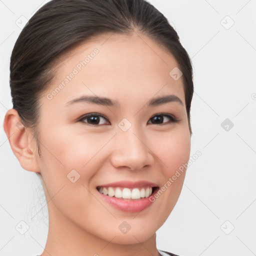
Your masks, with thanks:
[[[111,204],[113,207],[115,207],[119,210],[123,210],[123,211],[137,212],[137,211],[141,211],[141,210],[147,208],[149,205],[151,205],[152,202],[149,200],[149,197],[153,196],[153,194],[156,193],[157,190],[158,190],[158,187],[157,187],[157,189],[155,189],[155,191],[150,196],[139,199],[139,200],[134,200],[134,201],[125,201],[120,198],[111,197],[111,196],[108,196],[105,194],[101,194],[98,190],[97,191],[100,194],[100,196],[106,202]]]

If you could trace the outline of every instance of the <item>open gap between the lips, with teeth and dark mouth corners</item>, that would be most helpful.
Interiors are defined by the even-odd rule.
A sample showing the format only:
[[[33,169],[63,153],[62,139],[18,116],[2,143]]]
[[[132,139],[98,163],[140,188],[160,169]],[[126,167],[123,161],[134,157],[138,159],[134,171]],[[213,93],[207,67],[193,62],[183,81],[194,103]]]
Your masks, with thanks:
[[[104,195],[109,197],[115,197],[125,201],[132,201],[132,200],[141,200],[143,198],[149,197],[151,194],[156,192],[159,187],[158,186],[144,186],[144,187],[101,187],[97,186],[96,189]]]

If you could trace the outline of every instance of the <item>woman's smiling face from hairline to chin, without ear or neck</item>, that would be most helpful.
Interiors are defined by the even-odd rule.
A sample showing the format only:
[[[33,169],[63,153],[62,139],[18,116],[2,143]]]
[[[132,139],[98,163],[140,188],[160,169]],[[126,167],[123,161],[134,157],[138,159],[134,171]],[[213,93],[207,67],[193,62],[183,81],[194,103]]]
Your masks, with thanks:
[[[55,79],[40,98],[38,165],[46,199],[52,197],[50,219],[107,241],[137,243],[155,233],[178,199],[185,174],[178,168],[189,159],[190,133],[172,54],[141,34],[109,35],[60,58]],[[169,100],[152,100],[168,95]],[[82,96],[95,97],[94,102],[72,102]],[[107,199],[113,197],[97,187],[129,188],[129,183],[107,185],[118,181],[153,183],[161,193],[149,197],[150,203],[115,198],[112,204]],[[136,196],[147,186],[128,190]]]

